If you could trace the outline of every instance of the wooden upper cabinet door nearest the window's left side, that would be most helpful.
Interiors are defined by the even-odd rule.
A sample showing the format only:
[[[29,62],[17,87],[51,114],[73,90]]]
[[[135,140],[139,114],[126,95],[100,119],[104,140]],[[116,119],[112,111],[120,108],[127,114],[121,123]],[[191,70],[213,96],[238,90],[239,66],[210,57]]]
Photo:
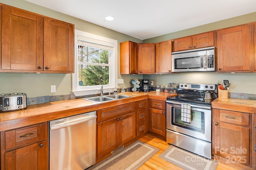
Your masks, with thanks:
[[[44,18],[44,70],[74,72],[74,25]]]

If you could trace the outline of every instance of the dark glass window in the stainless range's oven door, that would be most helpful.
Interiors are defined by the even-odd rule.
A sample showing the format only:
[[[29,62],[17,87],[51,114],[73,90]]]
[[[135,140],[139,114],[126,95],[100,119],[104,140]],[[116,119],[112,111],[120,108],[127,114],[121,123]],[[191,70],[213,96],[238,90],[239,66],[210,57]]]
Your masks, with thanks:
[[[204,133],[204,112],[191,110],[191,123],[181,121],[181,109],[172,107],[172,125]]]

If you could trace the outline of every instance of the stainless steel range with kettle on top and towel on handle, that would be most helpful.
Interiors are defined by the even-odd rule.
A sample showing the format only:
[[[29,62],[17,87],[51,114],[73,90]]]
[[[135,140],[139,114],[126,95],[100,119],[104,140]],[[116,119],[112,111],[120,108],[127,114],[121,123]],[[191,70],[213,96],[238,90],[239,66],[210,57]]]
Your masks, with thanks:
[[[211,159],[211,102],[218,97],[217,84],[179,83],[177,93],[166,101],[166,141]]]

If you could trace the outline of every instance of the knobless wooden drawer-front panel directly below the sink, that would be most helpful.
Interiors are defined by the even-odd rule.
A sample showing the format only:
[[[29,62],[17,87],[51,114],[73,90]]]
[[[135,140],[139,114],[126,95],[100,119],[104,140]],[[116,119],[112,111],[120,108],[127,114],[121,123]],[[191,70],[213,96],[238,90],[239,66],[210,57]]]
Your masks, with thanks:
[[[98,122],[104,121],[107,119],[112,119],[126,113],[131,113],[135,111],[135,102],[122,104],[119,106],[108,107],[106,109],[101,109],[97,111],[97,120]]]

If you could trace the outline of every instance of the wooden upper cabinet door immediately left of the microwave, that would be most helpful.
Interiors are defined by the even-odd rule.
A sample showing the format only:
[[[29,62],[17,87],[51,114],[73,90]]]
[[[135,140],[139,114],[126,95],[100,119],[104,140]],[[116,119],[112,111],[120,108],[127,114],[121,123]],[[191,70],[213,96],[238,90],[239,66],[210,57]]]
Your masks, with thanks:
[[[172,41],[156,43],[156,72],[172,72]]]

